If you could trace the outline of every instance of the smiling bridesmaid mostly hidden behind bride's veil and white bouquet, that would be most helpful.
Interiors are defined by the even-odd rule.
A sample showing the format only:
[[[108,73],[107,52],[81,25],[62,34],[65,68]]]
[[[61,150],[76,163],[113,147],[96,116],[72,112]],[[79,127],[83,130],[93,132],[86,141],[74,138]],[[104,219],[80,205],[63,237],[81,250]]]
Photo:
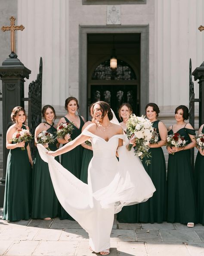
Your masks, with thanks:
[[[123,103],[118,109],[118,115],[123,120],[120,125],[124,132],[127,131],[127,121],[133,113],[132,106],[129,103]],[[138,205],[124,206],[122,210],[117,213],[117,221],[121,223],[136,223],[139,222],[139,207]]]

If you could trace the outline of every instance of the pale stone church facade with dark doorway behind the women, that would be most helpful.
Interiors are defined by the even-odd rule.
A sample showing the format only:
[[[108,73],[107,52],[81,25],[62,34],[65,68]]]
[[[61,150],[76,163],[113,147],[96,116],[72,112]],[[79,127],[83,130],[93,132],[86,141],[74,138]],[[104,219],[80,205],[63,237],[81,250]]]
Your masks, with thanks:
[[[198,30],[202,0],[1,2],[1,26],[9,25],[11,15],[16,25],[25,26],[16,32],[18,58],[32,71],[25,95],[42,56],[43,105],[52,105],[58,117],[68,96],[79,99],[86,119],[96,100],[109,102],[115,111],[121,102],[130,102],[138,115],[155,102],[167,126],[176,106],[189,105],[189,59],[192,71],[204,61],[204,34]],[[0,34],[2,62],[10,54],[10,35]],[[113,53],[117,70],[110,68]]]

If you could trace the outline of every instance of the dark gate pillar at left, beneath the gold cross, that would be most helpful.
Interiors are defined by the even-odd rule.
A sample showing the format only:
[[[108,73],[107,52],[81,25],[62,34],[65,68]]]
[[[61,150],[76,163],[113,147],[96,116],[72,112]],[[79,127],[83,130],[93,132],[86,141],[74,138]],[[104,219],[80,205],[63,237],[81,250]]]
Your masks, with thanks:
[[[24,78],[29,78],[31,70],[22,64],[15,53],[3,61],[0,66],[0,79],[2,80],[2,112],[3,112],[3,178],[0,180],[0,207],[3,207],[6,161],[9,150],[6,149],[6,132],[10,126],[10,115],[15,106],[24,107]]]

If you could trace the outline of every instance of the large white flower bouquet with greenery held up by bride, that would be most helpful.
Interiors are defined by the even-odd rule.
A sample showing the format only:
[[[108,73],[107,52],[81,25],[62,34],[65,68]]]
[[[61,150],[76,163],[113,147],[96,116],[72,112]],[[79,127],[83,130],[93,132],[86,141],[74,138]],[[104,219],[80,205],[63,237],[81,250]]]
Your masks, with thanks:
[[[149,150],[149,142],[152,138],[152,133],[154,129],[152,128],[151,122],[145,118],[145,116],[136,116],[135,114],[130,115],[129,120],[127,121],[127,137],[136,138],[136,147],[135,154],[140,157],[151,157]],[[131,150],[133,144],[129,143],[127,149]],[[146,164],[150,163],[149,160],[146,160]]]

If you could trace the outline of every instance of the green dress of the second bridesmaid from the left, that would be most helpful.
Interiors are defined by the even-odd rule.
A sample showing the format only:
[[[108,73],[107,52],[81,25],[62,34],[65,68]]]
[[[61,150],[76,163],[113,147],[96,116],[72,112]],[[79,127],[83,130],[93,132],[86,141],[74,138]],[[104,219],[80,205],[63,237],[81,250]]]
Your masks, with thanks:
[[[46,123],[46,122],[44,122]],[[50,125],[47,132],[56,135],[56,128]],[[49,149],[57,150],[57,141],[49,144]],[[59,157],[55,157],[59,162]],[[58,214],[59,202],[49,174],[48,164],[44,162],[36,150],[32,175],[32,213],[31,218],[55,218]]]

